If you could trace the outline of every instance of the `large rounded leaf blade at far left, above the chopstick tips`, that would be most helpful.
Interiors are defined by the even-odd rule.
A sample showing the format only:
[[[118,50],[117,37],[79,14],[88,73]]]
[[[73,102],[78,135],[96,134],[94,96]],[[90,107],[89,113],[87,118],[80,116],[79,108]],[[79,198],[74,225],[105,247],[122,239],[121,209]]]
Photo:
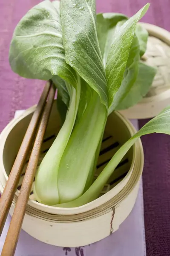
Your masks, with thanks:
[[[43,1],[20,20],[9,62],[15,73],[26,78],[49,80],[58,75],[72,85],[77,83],[75,71],[65,61],[59,1]]]

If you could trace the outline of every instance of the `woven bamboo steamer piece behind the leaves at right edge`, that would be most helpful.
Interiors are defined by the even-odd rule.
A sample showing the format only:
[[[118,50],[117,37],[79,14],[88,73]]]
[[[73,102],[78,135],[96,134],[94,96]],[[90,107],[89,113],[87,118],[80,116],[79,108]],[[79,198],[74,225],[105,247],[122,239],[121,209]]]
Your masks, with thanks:
[[[149,33],[144,63],[156,67],[157,73],[141,102],[120,111],[130,119],[152,118],[170,105],[170,32],[148,23],[141,25]]]

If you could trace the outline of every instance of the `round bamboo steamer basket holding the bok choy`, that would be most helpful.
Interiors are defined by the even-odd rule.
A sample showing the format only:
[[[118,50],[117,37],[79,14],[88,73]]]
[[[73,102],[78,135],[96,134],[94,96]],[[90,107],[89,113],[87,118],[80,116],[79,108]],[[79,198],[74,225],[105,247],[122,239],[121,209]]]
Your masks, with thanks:
[[[35,106],[13,119],[0,134],[1,193],[34,110]],[[54,102],[41,148],[39,164],[60,128],[60,116],[56,102]],[[120,113],[115,112],[109,115],[94,179],[104,169],[118,148],[134,133],[133,125]],[[138,140],[121,160],[99,198],[81,207],[46,206],[35,201],[32,191],[22,229],[40,241],[62,247],[78,247],[104,239],[118,230],[119,225],[133,209],[143,165],[143,148],[141,140]],[[14,211],[25,170],[26,166],[14,196],[10,215]]]

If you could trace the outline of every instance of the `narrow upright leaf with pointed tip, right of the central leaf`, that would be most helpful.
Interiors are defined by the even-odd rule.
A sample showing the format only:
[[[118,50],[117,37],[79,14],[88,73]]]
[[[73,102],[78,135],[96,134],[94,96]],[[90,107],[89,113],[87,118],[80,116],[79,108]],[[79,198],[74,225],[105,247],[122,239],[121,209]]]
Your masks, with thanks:
[[[137,22],[147,12],[148,8],[149,4],[115,30],[106,64],[109,106],[112,105],[115,93],[121,86]]]

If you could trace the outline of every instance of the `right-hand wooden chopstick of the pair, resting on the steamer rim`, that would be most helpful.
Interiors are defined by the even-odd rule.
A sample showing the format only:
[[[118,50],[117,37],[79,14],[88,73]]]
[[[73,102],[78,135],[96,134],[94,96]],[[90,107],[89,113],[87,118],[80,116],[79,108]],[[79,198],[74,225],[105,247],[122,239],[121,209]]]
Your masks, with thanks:
[[[12,220],[9,225],[9,230],[6,236],[6,240],[3,246],[1,256],[13,256],[17,241],[20,233],[20,229],[23,223],[23,218],[26,212],[27,202],[32,188],[32,183],[35,177],[35,171],[37,168],[38,158],[40,155],[40,148],[43,142],[43,137],[46,131],[46,126],[49,120],[49,115],[52,108],[53,99],[55,96],[55,88],[52,86],[49,91],[49,98],[43,111],[43,116],[40,121],[40,125],[35,138],[35,143],[32,149],[29,163],[26,169],[26,173],[23,179],[23,183],[20,189],[20,193],[17,199],[17,204],[12,215]]]

